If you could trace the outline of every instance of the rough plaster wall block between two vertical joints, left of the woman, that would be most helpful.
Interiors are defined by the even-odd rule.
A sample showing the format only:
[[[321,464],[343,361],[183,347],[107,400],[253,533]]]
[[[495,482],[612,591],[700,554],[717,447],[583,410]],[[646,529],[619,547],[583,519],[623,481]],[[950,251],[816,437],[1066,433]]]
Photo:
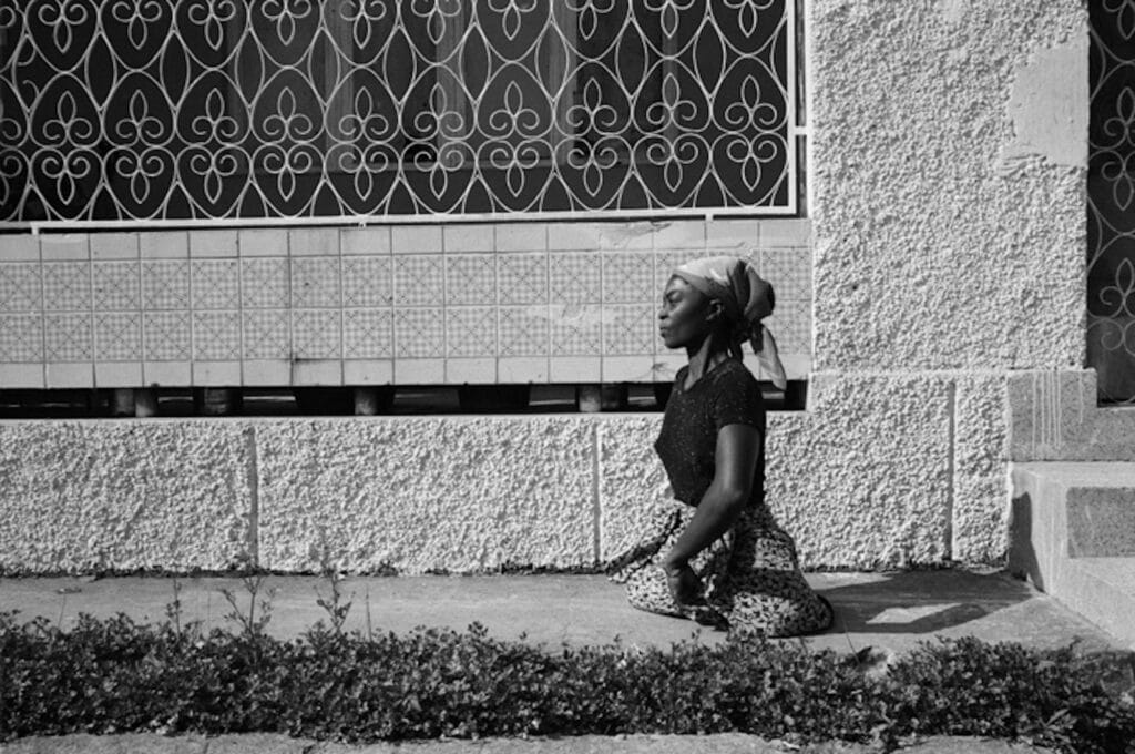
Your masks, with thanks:
[[[257,426],[260,559],[468,571],[595,560],[595,445],[577,418]]]

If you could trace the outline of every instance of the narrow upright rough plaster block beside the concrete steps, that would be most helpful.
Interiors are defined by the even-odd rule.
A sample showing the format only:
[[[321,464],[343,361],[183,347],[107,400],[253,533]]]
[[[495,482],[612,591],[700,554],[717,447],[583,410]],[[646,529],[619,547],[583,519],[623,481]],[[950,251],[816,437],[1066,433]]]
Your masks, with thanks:
[[[953,392],[952,555],[993,563],[1008,547],[1004,374],[960,374]]]

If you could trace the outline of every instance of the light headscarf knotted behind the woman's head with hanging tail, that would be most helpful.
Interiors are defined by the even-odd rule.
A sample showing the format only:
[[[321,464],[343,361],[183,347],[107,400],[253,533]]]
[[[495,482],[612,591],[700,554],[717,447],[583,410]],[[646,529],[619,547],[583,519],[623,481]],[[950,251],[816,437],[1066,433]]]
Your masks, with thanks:
[[[784,389],[788,378],[776,341],[760,324],[762,319],[773,313],[776,302],[772,284],[740,257],[703,257],[686,262],[674,270],[674,275],[721,302],[730,324],[730,354],[741,359],[741,344],[748,341],[773,385]]]

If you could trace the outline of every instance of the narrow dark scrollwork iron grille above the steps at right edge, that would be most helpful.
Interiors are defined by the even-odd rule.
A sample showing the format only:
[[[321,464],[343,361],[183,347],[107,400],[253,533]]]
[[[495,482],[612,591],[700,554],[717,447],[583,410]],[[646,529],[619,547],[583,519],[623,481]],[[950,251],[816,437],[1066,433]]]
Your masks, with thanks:
[[[1100,400],[1135,403],[1135,0],[1093,0],[1087,362]]]

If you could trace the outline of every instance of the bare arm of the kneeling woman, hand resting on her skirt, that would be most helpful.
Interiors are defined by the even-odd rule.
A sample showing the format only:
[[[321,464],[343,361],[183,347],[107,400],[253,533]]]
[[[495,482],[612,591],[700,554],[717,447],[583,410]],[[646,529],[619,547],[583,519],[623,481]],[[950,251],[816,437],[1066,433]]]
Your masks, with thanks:
[[[692,572],[687,573],[690,559],[725,534],[749,501],[760,441],[760,430],[750,425],[725,425],[717,430],[713,484],[686,530],[662,560],[663,569],[671,576],[672,589],[680,586],[676,590],[681,596],[689,597],[695,588],[688,578]]]

